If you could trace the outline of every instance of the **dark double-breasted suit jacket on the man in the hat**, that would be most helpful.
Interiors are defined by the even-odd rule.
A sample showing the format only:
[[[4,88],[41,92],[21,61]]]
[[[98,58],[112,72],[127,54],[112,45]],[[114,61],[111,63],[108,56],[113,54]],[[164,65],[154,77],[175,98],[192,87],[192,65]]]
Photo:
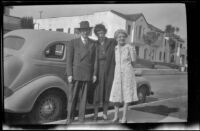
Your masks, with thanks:
[[[72,40],[67,50],[67,76],[73,80],[91,81],[97,75],[97,50],[95,41],[88,39],[86,45],[81,38]]]

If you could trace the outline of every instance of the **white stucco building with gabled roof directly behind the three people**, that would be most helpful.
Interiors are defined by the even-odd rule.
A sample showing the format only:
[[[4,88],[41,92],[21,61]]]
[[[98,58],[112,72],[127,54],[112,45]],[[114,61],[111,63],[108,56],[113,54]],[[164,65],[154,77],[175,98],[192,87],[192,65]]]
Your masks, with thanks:
[[[136,47],[138,58],[158,62],[170,62],[164,32],[149,24],[142,13],[122,14],[110,10],[81,16],[34,19],[34,29],[76,34],[76,28],[80,26],[80,22],[86,20],[92,27],[99,23],[104,24],[108,30],[106,36],[109,38],[114,37],[116,30],[125,29],[128,33],[128,42],[134,44]],[[143,35],[149,31],[154,31],[158,34],[158,39],[152,44],[153,46],[146,44],[143,39]],[[93,31],[90,37],[97,39]]]

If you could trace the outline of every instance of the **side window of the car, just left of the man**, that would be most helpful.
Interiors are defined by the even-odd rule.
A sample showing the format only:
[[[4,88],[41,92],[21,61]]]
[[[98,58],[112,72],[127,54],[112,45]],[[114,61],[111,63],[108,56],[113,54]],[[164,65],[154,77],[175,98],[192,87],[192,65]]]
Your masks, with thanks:
[[[65,48],[65,45],[63,43],[56,42],[45,50],[44,52],[45,57],[62,59],[64,56],[64,48]]]

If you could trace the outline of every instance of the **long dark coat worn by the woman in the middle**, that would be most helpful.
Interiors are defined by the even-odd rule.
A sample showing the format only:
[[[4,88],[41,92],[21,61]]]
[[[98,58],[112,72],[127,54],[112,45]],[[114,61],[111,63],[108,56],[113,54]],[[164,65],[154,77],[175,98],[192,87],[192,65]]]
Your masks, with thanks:
[[[109,102],[110,91],[114,79],[116,44],[117,42],[114,39],[106,38],[103,45],[105,51],[105,61],[103,64],[99,64],[102,55],[100,55],[100,53],[98,54],[98,81],[95,84],[94,103]],[[97,49],[99,52],[100,43],[98,43],[98,41]]]

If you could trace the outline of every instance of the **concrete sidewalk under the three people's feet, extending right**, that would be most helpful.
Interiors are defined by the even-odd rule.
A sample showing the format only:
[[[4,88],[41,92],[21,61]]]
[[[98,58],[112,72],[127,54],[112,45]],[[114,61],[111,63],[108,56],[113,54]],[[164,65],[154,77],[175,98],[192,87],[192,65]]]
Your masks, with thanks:
[[[166,100],[159,100],[150,103],[143,103],[140,105],[132,105],[129,107],[127,112],[128,117],[127,123],[163,123],[163,122],[186,122],[187,110],[183,110],[180,107],[180,102],[187,102],[187,97],[177,97],[169,98]],[[177,107],[174,107],[174,102]],[[185,106],[185,105],[184,105]],[[185,107],[187,108],[187,107]],[[177,114],[177,112],[179,114]],[[102,112],[99,113],[99,117],[102,116]],[[94,122],[92,120],[93,114],[86,115],[86,120],[84,123],[79,123],[77,117],[72,124],[112,124],[111,120],[114,117],[114,110],[108,111],[108,121],[98,120]],[[119,117],[122,117],[122,108],[120,108]],[[46,124],[65,124],[66,120],[60,120],[55,122],[50,122]]]

